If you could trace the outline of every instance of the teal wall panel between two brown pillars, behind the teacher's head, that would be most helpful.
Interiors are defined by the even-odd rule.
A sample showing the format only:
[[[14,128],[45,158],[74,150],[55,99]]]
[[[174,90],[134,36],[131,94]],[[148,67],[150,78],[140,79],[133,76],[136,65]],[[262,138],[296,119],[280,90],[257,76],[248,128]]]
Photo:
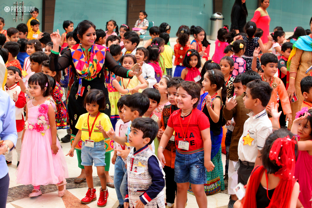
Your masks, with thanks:
[[[126,0],[56,0],[53,30],[60,30],[60,34],[65,32],[63,29],[64,20],[74,22],[74,27],[82,20],[90,20],[95,24],[96,29],[105,30],[106,22],[113,19],[117,25],[126,23],[127,1]]]

